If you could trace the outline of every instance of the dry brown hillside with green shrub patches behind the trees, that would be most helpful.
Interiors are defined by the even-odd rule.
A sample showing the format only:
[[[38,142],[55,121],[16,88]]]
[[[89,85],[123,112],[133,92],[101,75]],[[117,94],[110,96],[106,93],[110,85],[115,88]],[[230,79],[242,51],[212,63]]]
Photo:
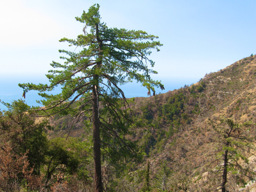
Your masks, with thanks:
[[[134,98],[134,103],[130,105],[133,116],[145,124],[134,128],[129,139],[138,141],[145,156],[139,165],[135,162],[127,164],[129,177],[123,177],[123,180],[129,180],[126,185],[136,186],[136,191],[143,187],[148,160],[151,181],[157,180],[165,165],[171,170],[171,179],[168,178],[166,184],[184,184],[183,191],[186,191],[185,188],[192,185],[191,181],[205,173],[204,165],[212,160],[209,154],[213,149],[215,135],[207,124],[207,118],[218,119],[224,116],[235,122],[255,123],[255,85],[256,56],[249,56],[216,73],[206,74],[191,86],[186,85],[156,96]],[[50,138],[64,136],[71,127],[70,117],[55,115],[49,121],[54,127],[54,131],[48,133]],[[71,130],[70,136],[85,134],[83,126],[81,119]],[[248,134],[255,138],[255,125],[251,125]],[[251,157],[250,163],[253,165],[254,158]],[[107,165],[104,169],[111,170]],[[112,180],[123,182],[116,181],[116,178]],[[247,187],[239,191],[252,191],[254,185]],[[192,187],[188,190],[192,191]]]

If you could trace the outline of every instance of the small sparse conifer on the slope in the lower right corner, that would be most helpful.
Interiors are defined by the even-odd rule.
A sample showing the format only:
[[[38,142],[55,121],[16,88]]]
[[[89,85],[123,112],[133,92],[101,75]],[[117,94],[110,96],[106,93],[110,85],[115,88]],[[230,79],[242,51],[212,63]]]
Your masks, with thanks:
[[[235,180],[236,184],[244,184],[243,177],[251,178],[253,173],[246,158],[246,153],[251,154],[251,149],[254,149],[253,140],[247,135],[249,129],[245,130],[245,127],[251,123],[237,124],[233,119],[221,118],[220,121],[208,119],[208,124],[217,134],[215,137],[217,156],[210,163],[214,167],[208,171],[208,179],[213,181],[212,187],[217,188],[216,190],[221,192],[226,192],[227,189],[234,190],[234,184],[230,184],[232,180]]]

